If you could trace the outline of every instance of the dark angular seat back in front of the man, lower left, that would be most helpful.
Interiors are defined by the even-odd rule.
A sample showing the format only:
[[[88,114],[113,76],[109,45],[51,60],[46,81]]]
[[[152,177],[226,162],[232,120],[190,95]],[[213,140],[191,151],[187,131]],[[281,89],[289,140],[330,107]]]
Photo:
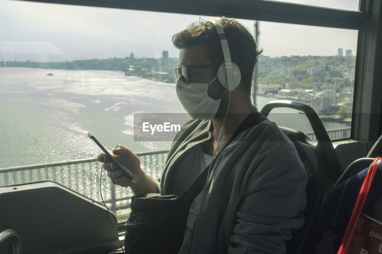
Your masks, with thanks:
[[[17,231],[23,253],[107,253],[120,246],[113,222],[103,205],[58,183],[0,186],[0,231]]]

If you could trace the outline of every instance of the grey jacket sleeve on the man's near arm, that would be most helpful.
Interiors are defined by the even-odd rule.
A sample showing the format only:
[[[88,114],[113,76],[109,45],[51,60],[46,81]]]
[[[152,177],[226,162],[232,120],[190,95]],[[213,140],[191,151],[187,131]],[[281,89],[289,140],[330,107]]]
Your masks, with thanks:
[[[307,181],[301,163],[286,161],[251,183],[235,212],[228,253],[285,253],[290,230],[304,223]]]

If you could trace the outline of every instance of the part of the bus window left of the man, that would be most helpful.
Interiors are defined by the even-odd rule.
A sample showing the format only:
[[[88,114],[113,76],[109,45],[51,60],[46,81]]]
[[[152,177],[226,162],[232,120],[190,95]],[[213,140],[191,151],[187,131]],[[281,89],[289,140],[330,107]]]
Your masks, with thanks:
[[[171,141],[134,141],[133,114],[185,113],[175,93],[179,51],[171,37],[198,17],[0,5],[0,185],[52,180],[100,201],[101,150],[88,132],[109,151],[117,144],[131,148],[157,179]],[[125,221],[130,189],[113,185],[105,173],[102,189]]]

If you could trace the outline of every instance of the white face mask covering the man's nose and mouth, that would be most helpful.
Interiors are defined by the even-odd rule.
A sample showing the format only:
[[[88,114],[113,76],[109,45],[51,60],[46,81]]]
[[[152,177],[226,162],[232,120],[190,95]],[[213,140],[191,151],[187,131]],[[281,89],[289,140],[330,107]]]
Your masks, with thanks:
[[[180,103],[183,105],[183,108],[186,109],[187,113],[194,119],[202,120],[212,120],[217,110],[219,109],[220,101],[222,100],[223,95],[214,100],[208,96],[207,89],[208,86],[214,82],[217,76],[212,79],[211,82],[207,83],[188,83],[179,79],[176,80],[176,94],[180,100]]]

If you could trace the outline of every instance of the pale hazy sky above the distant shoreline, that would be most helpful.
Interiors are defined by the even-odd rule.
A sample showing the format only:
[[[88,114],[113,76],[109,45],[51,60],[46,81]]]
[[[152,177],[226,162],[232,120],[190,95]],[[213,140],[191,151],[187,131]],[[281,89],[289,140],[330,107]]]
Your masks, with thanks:
[[[358,10],[356,0],[283,0]],[[222,13],[223,14],[223,13]],[[216,17],[0,0],[0,46],[5,61],[73,61],[135,57],[178,57],[171,37],[189,24]],[[238,19],[254,33],[254,21]],[[356,55],[358,31],[259,22],[259,48],[271,57]],[[1,56],[0,56],[1,60]]]

